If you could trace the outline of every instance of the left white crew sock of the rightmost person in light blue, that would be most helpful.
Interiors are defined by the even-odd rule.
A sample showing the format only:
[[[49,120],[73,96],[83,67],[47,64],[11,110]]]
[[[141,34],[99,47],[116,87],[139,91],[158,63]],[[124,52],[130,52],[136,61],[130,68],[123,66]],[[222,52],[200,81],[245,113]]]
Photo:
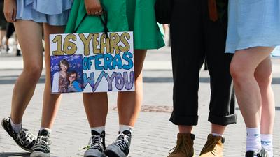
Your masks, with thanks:
[[[260,127],[246,128],[246,130],[246,151],[260,151],[262,149],[262,144],[260,143]]]

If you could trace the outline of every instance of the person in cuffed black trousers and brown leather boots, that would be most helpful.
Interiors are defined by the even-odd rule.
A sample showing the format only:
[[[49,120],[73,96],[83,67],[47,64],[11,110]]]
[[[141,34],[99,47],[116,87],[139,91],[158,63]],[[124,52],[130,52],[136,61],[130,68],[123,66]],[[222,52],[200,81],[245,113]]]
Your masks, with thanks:
[[[228,28],[227,0],[174,0],[170,23],[173,68],[173,105],[170,121],[179,127],[177,144],[168,157],[193,157],[198,121],[200,69],[207,59],[211,100],[211,130],[200,157],[223,156],[223,133],[235,124],[235,96],[230,76],[232,55],[225,54]]]

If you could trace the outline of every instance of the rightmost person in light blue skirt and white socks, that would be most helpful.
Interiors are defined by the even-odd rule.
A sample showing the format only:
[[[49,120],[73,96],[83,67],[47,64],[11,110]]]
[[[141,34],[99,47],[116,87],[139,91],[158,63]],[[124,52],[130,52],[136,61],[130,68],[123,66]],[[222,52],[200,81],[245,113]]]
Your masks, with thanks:
[[[278,0],[230,0],[225,52],[234,54],[230,73],[246,124],[247,157],[273,157],[274,47],[280,45]]]

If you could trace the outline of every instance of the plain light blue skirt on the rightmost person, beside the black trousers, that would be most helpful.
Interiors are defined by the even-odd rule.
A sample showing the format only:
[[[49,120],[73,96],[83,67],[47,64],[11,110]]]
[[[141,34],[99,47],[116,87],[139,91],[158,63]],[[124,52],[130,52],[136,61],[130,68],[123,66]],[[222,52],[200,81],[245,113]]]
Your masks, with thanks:
[[[225,52],[280,45],[279,0],[230,0]]]

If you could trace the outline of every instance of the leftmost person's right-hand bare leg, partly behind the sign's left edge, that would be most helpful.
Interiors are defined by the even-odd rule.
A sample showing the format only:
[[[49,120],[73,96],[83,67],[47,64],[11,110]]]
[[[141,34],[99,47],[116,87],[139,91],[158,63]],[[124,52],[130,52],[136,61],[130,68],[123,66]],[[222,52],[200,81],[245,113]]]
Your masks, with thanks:
[[[49,24],[44,24],[43,27],[45,33],[45,90],[43,95],[41,127],[51,129],[55,122],[55,117],[57,115],[62,96],[60,94],[51,94],[49,35],[52,33],[63,33],[64,27],[50,26]],[[41,41],[42,40],[40,40],[40,42]]]

